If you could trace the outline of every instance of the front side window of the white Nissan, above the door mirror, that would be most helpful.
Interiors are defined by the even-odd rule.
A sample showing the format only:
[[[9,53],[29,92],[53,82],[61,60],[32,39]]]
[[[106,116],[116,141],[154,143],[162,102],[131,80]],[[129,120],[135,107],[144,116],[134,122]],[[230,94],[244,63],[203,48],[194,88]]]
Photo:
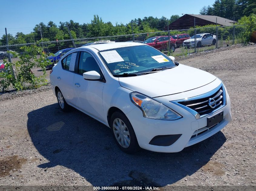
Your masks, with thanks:
[[[78,65],[78,74],[83,74],[89,71],[96,71],[101,74],[101,70],[91,54],[87,52],[81,52]]]

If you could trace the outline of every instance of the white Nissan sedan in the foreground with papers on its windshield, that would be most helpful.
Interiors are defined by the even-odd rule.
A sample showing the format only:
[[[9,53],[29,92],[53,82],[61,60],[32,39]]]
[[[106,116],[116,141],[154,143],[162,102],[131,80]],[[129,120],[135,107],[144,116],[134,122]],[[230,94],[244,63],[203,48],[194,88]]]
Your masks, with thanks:
[[[50,73],[60,109],[75,107],[110,127],[127,153],[178,152],[231,121],[219,78],[142,43],[76,48]]]

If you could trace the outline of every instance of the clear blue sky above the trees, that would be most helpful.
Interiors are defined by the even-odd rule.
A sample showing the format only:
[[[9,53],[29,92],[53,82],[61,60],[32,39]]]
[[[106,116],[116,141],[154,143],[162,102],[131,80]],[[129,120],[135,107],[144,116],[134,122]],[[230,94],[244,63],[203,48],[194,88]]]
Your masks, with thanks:
[[[90,23],[94,14],[98,14],[104,22],[126,24],[131,19],[153,16],[170,18],[173,14],[199,14],[204,6],[212,5],[214,0],[24,0],[2,1],[5,7],[0,20],[0,37],[5,33],[30,33],[36,24],[53,21],[65,22],[74,20],[80,24]]]

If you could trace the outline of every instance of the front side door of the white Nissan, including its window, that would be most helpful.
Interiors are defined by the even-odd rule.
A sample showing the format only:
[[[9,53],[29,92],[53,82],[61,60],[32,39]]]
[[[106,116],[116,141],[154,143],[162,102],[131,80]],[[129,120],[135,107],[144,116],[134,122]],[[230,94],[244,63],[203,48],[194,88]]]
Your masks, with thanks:
[[[81,52],[78,61],[78,73],[75,74],[73,81],[76,97],[75,106],[97,119],[104,120],[102,105],[104,82],[85,80],[83,73],[89,71],[96,71],[102,75],[94,56],[88,52]]]

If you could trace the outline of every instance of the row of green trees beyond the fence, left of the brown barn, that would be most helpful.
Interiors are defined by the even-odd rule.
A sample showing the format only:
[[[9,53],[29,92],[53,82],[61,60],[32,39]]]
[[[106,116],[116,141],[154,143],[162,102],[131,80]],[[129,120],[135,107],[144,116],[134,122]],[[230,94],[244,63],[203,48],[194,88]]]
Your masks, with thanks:
[[[126,35],[133,33],[147,33],[147,32],[158,32],[166,29],[168,23],[172,23],[177,20],[179,15],[172,15],[169,19],[162,16],[157,17],[144,17],[143,19],[134,19],[128,24],[118,24],[113,25],[111,22],[104,22],[102,18],[98,15],[94,15],[91,23],[79,24],[73,20],[69,22],[59,22],[57,26],[53,21],[49,21],[48,24],[41,22],[35,25],[33,32],[24,34],[22,32],[17,32],[15,36],[8,33],[8,44],[25,44],[25,43],[35,43],[36,41],[56,41],[58,40],[68,40],[70,35],[68,32],[68,27],[73,39],[81,38],[92,38],[92,37],[107,37],[115,35]],[[67,27],[68,24],[68,27]],[[41,39],[42,32],[42,39]],[[6,44],[5,34],[0,39],[0,46]]]

